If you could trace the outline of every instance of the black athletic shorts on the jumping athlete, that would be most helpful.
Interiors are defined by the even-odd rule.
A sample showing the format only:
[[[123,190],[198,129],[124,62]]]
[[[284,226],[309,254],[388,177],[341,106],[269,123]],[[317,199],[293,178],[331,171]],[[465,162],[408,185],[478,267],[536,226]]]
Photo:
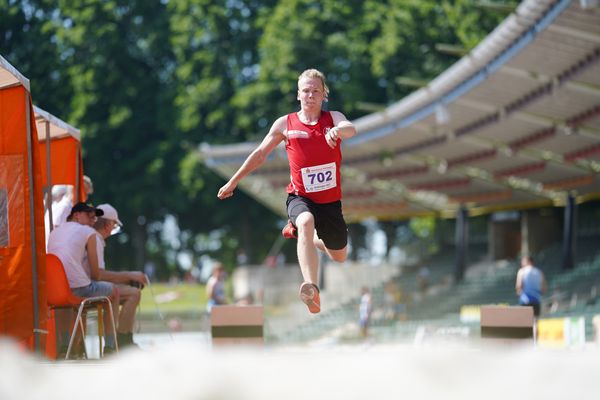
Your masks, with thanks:
[[[319,204],[306,197],[289,194],[286,201],[288,217],[294,225],[301,213],[308,211],[315,218],[315,229],[325,247],[341,250],[348,244],[348,227],[342,215],[342,202]]]

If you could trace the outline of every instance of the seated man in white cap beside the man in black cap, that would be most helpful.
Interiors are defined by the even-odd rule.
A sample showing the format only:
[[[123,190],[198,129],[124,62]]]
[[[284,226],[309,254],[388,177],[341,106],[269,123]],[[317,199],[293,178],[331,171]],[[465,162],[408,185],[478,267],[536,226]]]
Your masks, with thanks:
[[[101,271],[102,279],[113,282],[118,289],[118,298],[115,300],[117,308],[119,304],[123,306],[120,312],[115,313],[115,317],[118,320],[117,339],[119,346],[134,345],[133,327],[135,324],[135,312],[140,303],[140,288],[143,288],[147,282],[146,275],[140,271],[114,272],[106,270],[106,263],[104,261],[105,240],[113,233],[118,232],[123,223],[119,220],[117,210],[110,204],[101,204],[97,208],[103,212],[103,215],[98,217],[94,223],[94,228],[96,229],[97,264]],[[138,287],[134,287],[132,284]],[[110,347],[110,343],[107,343],[107,345]]]

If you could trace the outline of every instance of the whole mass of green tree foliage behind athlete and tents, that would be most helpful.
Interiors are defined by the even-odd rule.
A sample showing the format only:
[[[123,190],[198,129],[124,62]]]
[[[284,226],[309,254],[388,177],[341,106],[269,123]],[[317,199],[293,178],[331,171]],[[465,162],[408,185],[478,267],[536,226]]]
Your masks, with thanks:
[[[260,262],[282,223],[243,193],[220,202],[223,178],[203,165],[199,145],[262,138],[297,108],[297,76],[310,67],[327,74],[329,108],[348,118],[398,101],[414,89],[399,77],[428,80],[456,60],[437,44],[472,48],[504,17],[475,5],[0,0],[0,48],[30,78],[36,104],[82,130],[92,199],[114,204],[126,223],[108,252],[113,265],[153,259],[176,271],[169,252],[233,265],[242,249]],[[164,238],[168,216],[176,241]]]

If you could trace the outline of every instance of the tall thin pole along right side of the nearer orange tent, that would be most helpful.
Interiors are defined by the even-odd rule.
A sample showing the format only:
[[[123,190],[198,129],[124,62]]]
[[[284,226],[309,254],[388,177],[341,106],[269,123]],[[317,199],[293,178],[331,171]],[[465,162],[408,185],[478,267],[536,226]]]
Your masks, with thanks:
[[[33,145],[31,141],[31,104],[29,92],[25,92],[25,120],[27,123],[27,173],[29,176],[29,221],[31,233],[31,283],[33,293],[33,340],[34,351],[40,352],[40,310],[38,305],[38,279],[37,279],[37,243],[34,212],[34,184],[33,184]]]

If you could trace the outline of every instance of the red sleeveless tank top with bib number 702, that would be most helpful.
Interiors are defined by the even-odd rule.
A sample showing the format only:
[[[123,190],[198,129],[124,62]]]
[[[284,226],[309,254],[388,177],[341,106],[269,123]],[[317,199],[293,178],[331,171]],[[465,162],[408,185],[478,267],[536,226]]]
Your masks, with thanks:
[[[339,144],[332,149],[325,134],[333,127],[329,111],[322,111],[315,125],[300,121],[297,113],[287,117],[287,151],[291,182],[287,192],[315,203],[332,203],[342,198]]]

